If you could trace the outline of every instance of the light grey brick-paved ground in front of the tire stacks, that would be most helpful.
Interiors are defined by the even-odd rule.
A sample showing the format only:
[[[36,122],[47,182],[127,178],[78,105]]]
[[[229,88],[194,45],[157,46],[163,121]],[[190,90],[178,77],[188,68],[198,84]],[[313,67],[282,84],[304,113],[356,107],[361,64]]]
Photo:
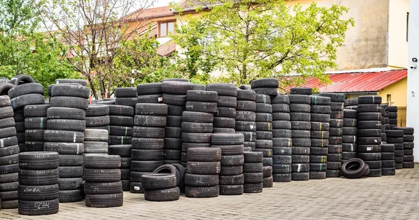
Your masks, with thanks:
[[[61,203],[58,214],[27,217],[0,210],[0,219],[419,219],[419,166],[396,176],[330,178],[274,184],[262,194],[186,198],[154,203],[124,193],[124,206]]]

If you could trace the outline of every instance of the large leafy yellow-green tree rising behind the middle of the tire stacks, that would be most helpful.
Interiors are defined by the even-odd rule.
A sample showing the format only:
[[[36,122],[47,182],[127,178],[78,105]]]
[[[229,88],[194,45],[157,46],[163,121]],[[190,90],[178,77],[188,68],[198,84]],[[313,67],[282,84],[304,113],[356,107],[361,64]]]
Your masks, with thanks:
[[[328,81],[323,73],[337,68],[337,47],[354,25],[352,18],[341,19],[348,8],[337,5],[325,8],[313,2],[302,8],[285,0],[222,0],[210,1],[216,4],[203,10],[201,3],[201,15],[185,16],[187,23],[178,25],[174,36],[186,50],[183,66],[203,77],[221,70],[215,79],[235,84],[263,77],[277,77],[284,86],[309,76]],[[290,74],[302,77],[286,77]]]

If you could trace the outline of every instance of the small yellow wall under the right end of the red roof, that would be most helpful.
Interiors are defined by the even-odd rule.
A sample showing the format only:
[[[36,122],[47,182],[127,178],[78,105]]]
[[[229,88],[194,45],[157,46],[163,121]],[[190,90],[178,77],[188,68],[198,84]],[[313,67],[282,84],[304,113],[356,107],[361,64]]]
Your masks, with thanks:
[[[391,105],[398,107],[406,107],[406,96],[407,96],[407,78],[397,81],[395,84],[391,84],[378,91],[378,95],[381,96],[383,102],[387,100],[387,94],[391,95]]]

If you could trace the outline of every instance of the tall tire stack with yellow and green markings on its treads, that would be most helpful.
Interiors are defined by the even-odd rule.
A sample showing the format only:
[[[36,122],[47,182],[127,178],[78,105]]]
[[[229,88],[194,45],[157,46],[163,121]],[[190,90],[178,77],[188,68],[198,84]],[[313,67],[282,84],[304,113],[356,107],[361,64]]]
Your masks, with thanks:
[[[330,97],[311,95],[310,179],[326,178],[328,169]]]

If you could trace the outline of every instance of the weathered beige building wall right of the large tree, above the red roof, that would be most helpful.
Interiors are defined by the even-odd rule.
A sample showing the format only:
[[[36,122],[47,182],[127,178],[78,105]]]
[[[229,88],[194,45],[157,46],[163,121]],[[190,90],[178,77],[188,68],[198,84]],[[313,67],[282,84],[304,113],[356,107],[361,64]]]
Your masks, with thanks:
[[[290,4],[308,6],[312,1],[291,0]],[[337,50],[338,70],[387,67],[388,1],[316,0],[318,6],[326,7],[340,2],[349,8],[343,18],[355,20],[355,26],[346,32],[346,42]]]

